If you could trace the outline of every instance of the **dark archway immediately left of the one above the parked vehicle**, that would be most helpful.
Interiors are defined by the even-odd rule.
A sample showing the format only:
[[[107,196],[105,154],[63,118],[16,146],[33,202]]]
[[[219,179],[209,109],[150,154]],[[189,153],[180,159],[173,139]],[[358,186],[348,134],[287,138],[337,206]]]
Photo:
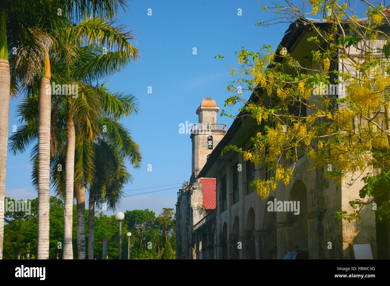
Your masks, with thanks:
[[[274,202],[274,197],[269,197],[268,202]],[[260,258],[262,259],[277,259],[277,232],[276,232],[276,212],[269,212],[268,208],[264,208],[263,230],[262,232],[262,251]]]

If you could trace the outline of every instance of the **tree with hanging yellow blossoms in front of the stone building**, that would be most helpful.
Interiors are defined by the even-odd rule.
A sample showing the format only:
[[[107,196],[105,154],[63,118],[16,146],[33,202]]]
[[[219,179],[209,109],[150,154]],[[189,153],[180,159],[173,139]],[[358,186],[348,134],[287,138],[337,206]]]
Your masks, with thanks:
[[[358,219],[378,197],[385,197],[376,210],[379,217],[390,214],[390,10],[361,2],[362,15],[338,0],[263,5],[277,17],[257,25],[291,23],[290,37],[300,29],[300,43],[276,51],[242,47],[238,67],[228,65],[238,78],[227,86],[233,95],[225,106],[243,103],[237,117],[255,119],[258,131],[250,149],[226,146],[223,152],[235,150],[266,169],[266,179],[252,182],[263,200],[278,182],[291,182],[305,155],[311,169],[322,169],[338,184],[362,178],[367,183],[350,202],[354,211],[336,216]],[[249,100],[242,96],[245,89],[253,91]]]

